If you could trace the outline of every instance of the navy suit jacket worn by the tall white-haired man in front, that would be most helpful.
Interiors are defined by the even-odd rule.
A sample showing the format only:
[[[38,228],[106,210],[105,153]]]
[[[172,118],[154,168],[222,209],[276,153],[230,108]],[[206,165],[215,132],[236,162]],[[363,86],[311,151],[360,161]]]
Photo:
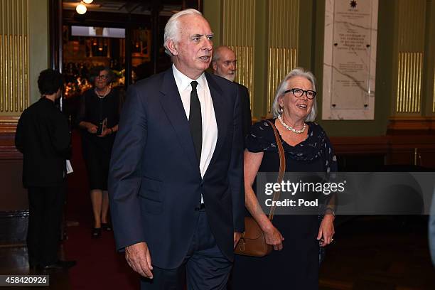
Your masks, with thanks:
[[[244,230],[241,110],[237,86],[205,73],[218,140],[201,179],[172,69],[129,87],[109,170],[117,248],[146,242],[157,267],[186,256],[201,194],[216,243],[233,259],[233,232]],[[196,210],[195,210],[196,209]]]

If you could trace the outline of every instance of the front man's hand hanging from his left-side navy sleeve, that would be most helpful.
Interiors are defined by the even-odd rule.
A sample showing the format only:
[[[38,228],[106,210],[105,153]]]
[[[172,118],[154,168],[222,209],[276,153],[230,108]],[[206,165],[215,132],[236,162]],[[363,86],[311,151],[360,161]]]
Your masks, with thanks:
[[[151,272],[153,269],[151,266],[151,254],[146,242],[139,242],[125,247],[125,259],[135,272],[146,278],[153,278],[153,273]]]

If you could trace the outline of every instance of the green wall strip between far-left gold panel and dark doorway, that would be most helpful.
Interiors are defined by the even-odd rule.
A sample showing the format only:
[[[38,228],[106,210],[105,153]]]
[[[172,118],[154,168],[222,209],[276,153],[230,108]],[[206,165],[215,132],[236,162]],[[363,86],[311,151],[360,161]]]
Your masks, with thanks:
[[[48,26],[48,0],[28,1],[29,24],[29,84],[30,104],[41,97],[38,91],[38,75],[41,70],[48,68],[49,26]]]

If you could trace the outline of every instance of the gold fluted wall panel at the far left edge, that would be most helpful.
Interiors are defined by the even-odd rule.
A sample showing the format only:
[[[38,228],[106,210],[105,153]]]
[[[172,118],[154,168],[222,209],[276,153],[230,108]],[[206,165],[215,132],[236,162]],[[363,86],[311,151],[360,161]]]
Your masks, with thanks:
[[[28,0],[0,0],[0,114],[28,107]]]

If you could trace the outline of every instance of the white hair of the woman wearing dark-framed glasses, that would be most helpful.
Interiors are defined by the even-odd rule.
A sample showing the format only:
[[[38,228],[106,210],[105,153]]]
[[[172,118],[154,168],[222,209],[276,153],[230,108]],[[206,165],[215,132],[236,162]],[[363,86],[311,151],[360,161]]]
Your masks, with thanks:
[[[290,80],[291,77],[305,77],[307,80],[311,82],[311,85],[313,86],[313,91],[316,91],[316,77],[314,77],[313,73],[311,73],[308,70],[305,70],[304,68],[294,68],[294,70],[291,70],[290,73],[284,77],[284,80],[281,81],[278,88],[275,92],[275,99],[274,103],[272,104],[272,114],[274,114],[274,117],[278,117],[281,114],[281,106],[279,105],[279,98],[284,95],[284,92],[286,90],[289,90],[289,87],[287,87],[287,80]],[[311,112],[306,116],[305,122],[313,122],[316,119],[317,114],[317,102],[316,98],[313,100],[313,107],[311,107]]]

